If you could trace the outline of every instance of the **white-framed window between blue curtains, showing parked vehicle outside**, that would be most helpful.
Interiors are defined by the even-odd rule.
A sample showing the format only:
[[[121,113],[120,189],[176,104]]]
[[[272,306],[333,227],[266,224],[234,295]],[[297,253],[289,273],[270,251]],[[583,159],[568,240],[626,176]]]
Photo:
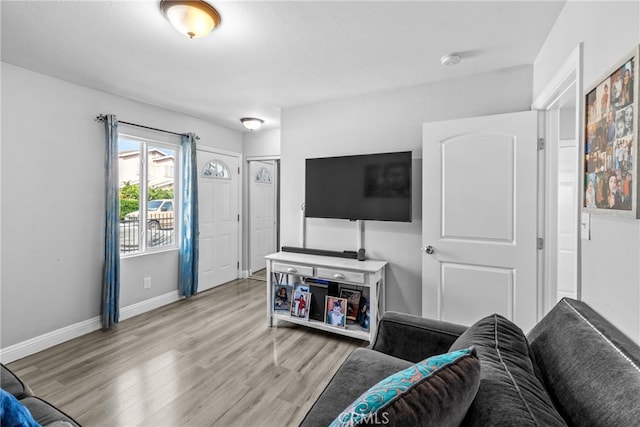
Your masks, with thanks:
[[[120,255],[177,247],[178,148],[118,135]]]

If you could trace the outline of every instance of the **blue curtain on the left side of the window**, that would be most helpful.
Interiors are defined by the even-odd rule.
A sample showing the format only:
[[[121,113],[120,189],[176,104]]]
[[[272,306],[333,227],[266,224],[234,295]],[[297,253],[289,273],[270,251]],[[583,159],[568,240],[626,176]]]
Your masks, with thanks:
[[[118,120],[104,116],[106,130],[106,224],[102,278],[102,327],[120,320],[120,197],[118,194]]]

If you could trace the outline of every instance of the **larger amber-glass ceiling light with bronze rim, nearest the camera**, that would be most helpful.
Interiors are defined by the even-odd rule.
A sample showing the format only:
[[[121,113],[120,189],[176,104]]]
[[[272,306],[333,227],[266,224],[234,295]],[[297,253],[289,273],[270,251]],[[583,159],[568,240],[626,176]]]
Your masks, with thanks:
[[[220,25],[220,14],[201,0],[162,0],[160,10],[171,25],[190,39],[203,37]]]

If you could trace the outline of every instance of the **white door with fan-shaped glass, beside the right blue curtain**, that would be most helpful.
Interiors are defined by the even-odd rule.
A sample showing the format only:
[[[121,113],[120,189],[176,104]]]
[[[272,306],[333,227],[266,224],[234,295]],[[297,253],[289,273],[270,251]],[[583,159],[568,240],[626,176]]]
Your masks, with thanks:
[[[198,150],[198,291],[238,278],[239,159]]]

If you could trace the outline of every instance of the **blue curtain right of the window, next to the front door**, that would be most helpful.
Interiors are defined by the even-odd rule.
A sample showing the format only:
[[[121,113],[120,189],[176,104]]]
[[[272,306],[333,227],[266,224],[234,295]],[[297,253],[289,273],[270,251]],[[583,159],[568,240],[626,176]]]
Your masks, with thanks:
[[[189,298],[198,292],[198,167],[195,135],[182,135],[182,232],[178,289]]]

